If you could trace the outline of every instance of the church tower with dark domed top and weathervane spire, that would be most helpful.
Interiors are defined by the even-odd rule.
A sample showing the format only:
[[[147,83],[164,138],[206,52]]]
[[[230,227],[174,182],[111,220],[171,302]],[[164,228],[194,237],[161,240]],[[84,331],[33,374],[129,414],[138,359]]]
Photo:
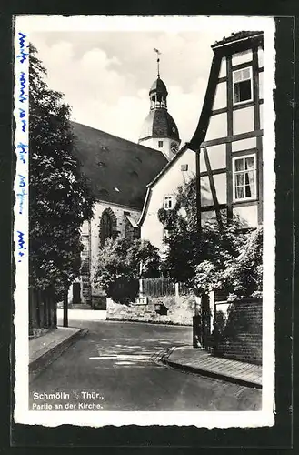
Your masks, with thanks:
[[[149,91],[150,112],[145,118],[138,144],[161,151],[170,161],[181,143],[177,126],[167,111],[167,88],[160,78],[159,54],[157,49],[158,77]]]

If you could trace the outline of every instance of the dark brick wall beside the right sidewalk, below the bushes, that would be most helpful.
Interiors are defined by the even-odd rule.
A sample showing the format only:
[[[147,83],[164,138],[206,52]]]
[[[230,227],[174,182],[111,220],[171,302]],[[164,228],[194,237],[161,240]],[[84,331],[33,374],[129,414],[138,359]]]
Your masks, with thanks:
[[[214,353],[261,365],[262,300],[234,301],[224,312],[221,307],[215,312]]]

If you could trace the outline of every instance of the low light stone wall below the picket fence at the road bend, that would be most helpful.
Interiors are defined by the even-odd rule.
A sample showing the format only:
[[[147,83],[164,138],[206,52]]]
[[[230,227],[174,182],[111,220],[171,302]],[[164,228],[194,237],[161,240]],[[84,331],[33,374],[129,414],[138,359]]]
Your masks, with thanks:
[[[149,297],[145,305],[122,305],[107,298],[106,319],[152,322],[155,324],[192,325],[194,296]],[[158,314],[155,305],[164,304],[167,314]]]

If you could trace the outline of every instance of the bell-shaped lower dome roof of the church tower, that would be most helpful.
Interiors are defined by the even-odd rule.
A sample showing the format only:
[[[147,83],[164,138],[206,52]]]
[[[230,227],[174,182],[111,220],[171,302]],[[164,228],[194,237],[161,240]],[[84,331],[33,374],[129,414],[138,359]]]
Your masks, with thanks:
[[[145,137],[170,137],[180,140],[174,119],[164,108],[153,109],[146,116],[140,139]]]

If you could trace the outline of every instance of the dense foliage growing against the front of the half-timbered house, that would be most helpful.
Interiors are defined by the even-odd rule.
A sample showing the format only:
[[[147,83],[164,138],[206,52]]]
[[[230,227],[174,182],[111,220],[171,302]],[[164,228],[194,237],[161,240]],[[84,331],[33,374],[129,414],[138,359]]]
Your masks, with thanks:
[[[195,186],[194,177],[178,188],[173,210],[161,208],[158,212],[160,221],[170,233],[165,240],[167,248],[164,271],[175,281],[184,281],[199,295],[204,295],[215,288],[227,288],[232,294],[237,292],[237,295],[241,296],[241,289],[244,289],[246,283],[247,294],[252,294],[254,283],[257,285],[261,281],[260,278],[250,277],[251,270],[255,270],[256,273],[261,271],[260,253],[254,249],[256,254],[253,252],[251,255],[250,266],[246,263],[244,251],[247,251],[247,248],[252,251],[254,247],[248,246],[251,237],[248,239],[244,225],[237,217],[228,221],[222,215],[221,224],[214,218],[207,220],[199,232]]]

